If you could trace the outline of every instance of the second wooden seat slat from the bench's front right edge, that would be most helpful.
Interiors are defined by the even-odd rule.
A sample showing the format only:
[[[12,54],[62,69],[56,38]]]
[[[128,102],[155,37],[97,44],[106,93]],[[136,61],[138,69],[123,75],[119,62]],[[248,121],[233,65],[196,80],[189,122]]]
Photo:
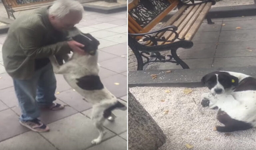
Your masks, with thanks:
[[[179,34],[179,38],[184,38],[185,35],[188,33],[189,29],[193,26],[194,22],[204,9],[206,3],[202,3],[199,8],[197,9],[196,13],[190,18],[189,22],[186,24],[186,26],[183,28],[183,30]]]

